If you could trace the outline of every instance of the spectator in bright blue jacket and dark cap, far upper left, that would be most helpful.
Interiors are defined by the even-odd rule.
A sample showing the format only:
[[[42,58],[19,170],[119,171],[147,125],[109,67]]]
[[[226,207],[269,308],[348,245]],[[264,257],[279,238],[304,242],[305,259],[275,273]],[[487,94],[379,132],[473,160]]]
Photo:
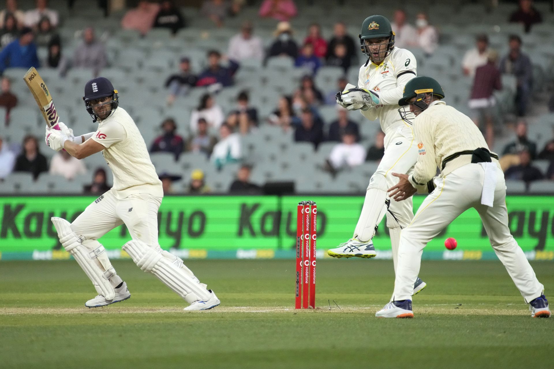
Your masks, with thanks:
[[[24,27],[19,33],[19,38],[12,41],[0,52],[0,74],[6,68],[39,68],[37,45],[33,42],[33,31]]]

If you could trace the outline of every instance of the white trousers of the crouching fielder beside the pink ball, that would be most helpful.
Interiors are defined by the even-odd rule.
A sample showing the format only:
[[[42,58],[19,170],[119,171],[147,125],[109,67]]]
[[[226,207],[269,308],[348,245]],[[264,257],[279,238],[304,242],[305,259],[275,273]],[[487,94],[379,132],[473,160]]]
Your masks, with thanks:
[[[508,228],[504,173],[496,168],[493,207],[481,204],[484,173],[481,165],[468,164],[444,178],[434,179],[437,188],[425,198],[412,223],[402,229],[400,234],[392,300],[412,299],[423,248],[444,227],[472,207],[479,213],[494,252],[506,267],[525,302],[529,303],[542,294],[544,286],[537,280],[535,271]]]

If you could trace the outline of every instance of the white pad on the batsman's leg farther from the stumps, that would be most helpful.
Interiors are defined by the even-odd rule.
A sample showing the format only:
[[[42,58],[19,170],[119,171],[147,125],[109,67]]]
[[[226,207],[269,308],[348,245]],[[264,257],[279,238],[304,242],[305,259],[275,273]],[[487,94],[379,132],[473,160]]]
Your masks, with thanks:
[[[73,255],[73,258],[81,269],[85,271],[85,274],[92,281],[96,292],[107,300],[113,300],[115,291],[110,284],[109,278],[115,275],[115,269],[111,266],[110,260],[106,256],[104,246],[100,245],[91,251],[83,246],[82,242],[84,238],[78,237],[73,232],[71,224],[68,221],[58,217],[50,219],[58,232],[61,245],[63,245],[68,253]]]

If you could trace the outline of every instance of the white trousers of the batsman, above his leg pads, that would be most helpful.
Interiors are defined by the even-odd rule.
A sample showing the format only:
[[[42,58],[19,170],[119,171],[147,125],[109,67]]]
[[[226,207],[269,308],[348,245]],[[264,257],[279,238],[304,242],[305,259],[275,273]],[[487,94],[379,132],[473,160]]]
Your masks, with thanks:
[[[73,232],[86,239],[98,239],[115,227],[124,224],[132,239],[158,245],[158,208],[161,197],[132,194],[118,199],[111,189],[102,194],[71,223]]]

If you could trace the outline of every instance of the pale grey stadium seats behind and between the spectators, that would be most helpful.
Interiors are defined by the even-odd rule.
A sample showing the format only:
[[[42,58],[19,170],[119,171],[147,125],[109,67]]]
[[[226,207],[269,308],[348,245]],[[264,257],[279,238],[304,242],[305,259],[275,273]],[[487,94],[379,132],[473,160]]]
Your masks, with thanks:
[[[30,8],[32,1],[20,1],[19,6]],[[65,2],[53,2],[52,5],[60,12],[61,27],[58,32],[63,40],[63,52],[70,56],[73,49],[81,42],[80,34],[90,19],[95,19],[97,34],[105,38],[105,45],[110,55],[110,66],[101,71],[101,75],[109,78],[119,90],[120,104],[135,119],[137,126],[145,137],[146,145],[151,146],[156,136],[161,134],[160,124],[166,117],[173,117],[177,121],[178,134],[187,139],[189,132],[189,117],[196,109],[199,98],[207,92],[206,88],[196,88],[186,97],[177,98],[170,107],[167,106],[167,90],[164,82],[168,75],[177,72],[178,60],[188,57],[195,73],[206,68],[207,50],[217,49],[225,52],[228,40],[239,32],[239,25],[247,19],[254,22],[254,34],[263,38],[265,47],[273,42],[273,30],[276,22],[271,19],[259,19],[257,7],[246,7],[235,18],[225,20],[222,28],[214,28],[199,14],[194,7],[182,8],[189,27],[179,30],[175,37],[171,37],[166,29],[152,29],[145,37],[134,30],[120,28],[123,11],[111,14],[104,18],[102,12],[90,6],[90,2],[76,0],[73,10],[66,8]],[[461,59],[466,50],[473,48],[475,35],[487,33],[491,47],[504,55],[507,50],[507,35],[515,33],[522,35],[524,50],[531,54],[534,64],[536,93],[543,93],[551,88],[554,81],[554,44],[551,42],[554,33],[554,16],[541,7],[543,19],[541,24],[535,25],[532,32],[525,34],[520,24],[506,23],[514,6],[500,3],[496,8],[489,8],[483,3],[467,3],[455,0],[447,3],[435,2],[428,6],[428,2],[392,1],[387,4],[372,3],[361,6],[358,3],[344,2],[341,6],[336,1],[321,0],[316,5],[297,2],[299,15],[291,20],[295,29],[294,38],[301,44],[307,26],[312,22],[322,25],[322,32],[326,38],[331,36],[332,25],[340,20],[352,19],[352,14],[362,12],[382,13],[392,16],[393,9],[403,7],[410,17],[421,11],[422,6],[428,11],[429,19],[440,33],[440,45],[433,57],[427,58],[422,50],[411,48],[418,61],[419,75],[432,75],[439,79],[447,91],[448,104],[468,113],[467,101],[469,98],[471,79],[461,75]],[[86,10],[85,10],[86,9]],[[71,16],[70,16],[71,14]],[[356,21],[357,22],[357,21]],[[356,38],[359,33],[357,23],[348,22],[348,31]],[[107,35],[107,37],[106,37]],[[45,50],[39,54],[45,57]],[[358,71],[365,56],[358,52],[358,63],[348,69],[346,76],[350,83],[357,84]],[[4,75],[12,80],[12,89],[18,95],[20,104],[11,112],[9,126],[4,126],[5,112],[0,110],[0,134],[9,146],[19,144],[27,134],[42,136],[43,120],[40,116],[32,96],[25,88],[21,76],[26,70],[8,68]],[[95,131],[97,123],[91,121],[84,109],[83,84],[91,78],[91,70],[69,69],[65,78],[60,78],[58,70],[42,68],[40,74],[55,96],[55,102],[64,122],[73,127],[75,134]],[[299,86],[299,79],[304,74],[310,74],[305,68],[294,68],[290,58],[269,58],[264,66],[261,60],[247,59],[240,63],[240,69],[235,75],[235,86],[225,88],[216,95],[218,104],[225,113],[235,109],[237,95],[247,90],[250,95],[250,104],[257,107],[259,127],[252,133],[241,137],[244,161],[254,165],[252,180],[263,184],[266,180],[294,180],[297,192],[336,192],[336,193],[363,193],[367,183],[377,165],[366,162],[353,170],[345,170],[332,178],[329,173],[323,172],[325,159],[335,143],[321,143],[315,151],[310,143],[294,142],[294,130],[284,133],[280,127],[268,125],[267,117],[276,108],[281,95],[292,94]],[[324,94],[336,89],[336,80],[345,73],[341,68],[323,66],[315,76],[315,84]],[[502,118],[514,112],[516,80],[512,76],[502,76],[503,89],[496,93],[498,115]],[[324,120],[324,131],[336,119],[335,105],[322,105],[319,114]],[[380,129],[377,122],[367,121],[358,112],[350,112],[349,118],[360,123],[362,145],[370,146],[375,134]],[[552,126],[554,115],[543,114],[531,117],[529,121],[529,137],[537,141],[538,149],[553,136]],[[217,132],[213,132],[217,135]],[[501,152],[505,143],[509,141],[508,132],[501,132],[496,138],[494,150]],[[39,139],[39,142],[42,140]],[[48,157],[53,152],[44,148],[42,152]],[[192,170],[201,168],[207,173],[207,183],[214,191],[226,192],[233,180],[237,165],[226,166],[217,172],[203,153],[185,152],[175,161],[172,154],[153,153],[152,161],[158,173],[171,172],[183,176],[183,179],[173,186],[176,191],[185,191],[188,178]],[[89,172],[97,167],[108,168],[101,155],[85,158],[85,165]],[[535,165],[542,172],[546,171],[548,162],[536,161]],[[111,178],[111,173],[107,170]],[[25,181],[21,173],[14,173],[2,183],[2,191],[11,188],[17,193],[27,192],[56,192],[69,191],[80,193],[82,184],[79,181],[68,182],[47,175],[40,176],[38,182]],[[25,177],[28,179],[28,176]],[[87,180],[90,174],[84,176]],[[60,184],[69,183],[69,184]],[[548,188],[553,182],[536,182],[531,184],[531,192],[554,192]],[[79,184],[79,186],[77,186]],[[508,191],[511,193],[525,193],[526,187],[522,182],[508,182]],[[7,191],[9,192],[9,191]]]

